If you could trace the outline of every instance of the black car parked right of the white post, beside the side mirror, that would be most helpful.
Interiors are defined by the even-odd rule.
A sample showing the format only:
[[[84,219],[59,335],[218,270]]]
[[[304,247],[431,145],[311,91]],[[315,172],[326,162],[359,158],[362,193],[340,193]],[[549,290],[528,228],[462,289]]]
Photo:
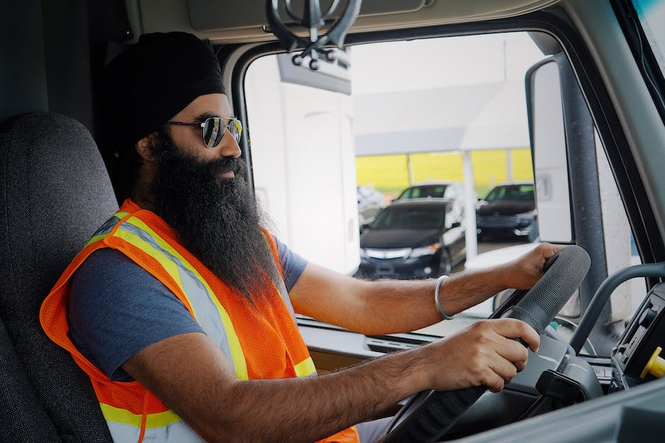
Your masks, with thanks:
[[[533,183],[500,184],[480,201],[476,211],[478,240],[487,237],[538,237]]]

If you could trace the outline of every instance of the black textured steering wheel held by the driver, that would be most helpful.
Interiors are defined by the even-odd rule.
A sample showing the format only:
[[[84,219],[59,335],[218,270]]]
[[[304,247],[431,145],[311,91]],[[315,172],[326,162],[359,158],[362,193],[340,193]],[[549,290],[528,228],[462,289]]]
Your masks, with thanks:
[[[519,319],[542,334],[582,283],[590,264],[589,254],[581,247],[560,249],[545,262],[545,274],[533,288],[516,290],[489,318]],[[436,442],[485,391],[486,386],[473,386],[415,394],[383,430],[379,442]]]

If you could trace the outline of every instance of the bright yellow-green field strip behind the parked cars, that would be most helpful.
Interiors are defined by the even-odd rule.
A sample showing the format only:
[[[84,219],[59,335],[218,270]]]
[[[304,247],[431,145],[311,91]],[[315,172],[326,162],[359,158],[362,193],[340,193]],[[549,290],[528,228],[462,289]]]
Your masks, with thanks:
[[[484,197],[496,184],[507,181],[507,156],[511,155],[514,180],[533,180],[531,150],[476,150],[471,153],[473,187]],[[414,182],[455,180],[463,182],[462,153],[411,154]],[[370,155],[356,158],[357,183],[384,194],[398,194],[409,186],[407,155]]]

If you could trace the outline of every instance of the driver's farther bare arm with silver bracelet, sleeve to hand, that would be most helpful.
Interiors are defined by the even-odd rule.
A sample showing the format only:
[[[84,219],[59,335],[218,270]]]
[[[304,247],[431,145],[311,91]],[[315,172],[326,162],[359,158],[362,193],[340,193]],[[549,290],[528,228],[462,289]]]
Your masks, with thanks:
[[[507,264],[447,278],[441,284],[442,309],[453,315],[506,288],[531,288],[557,249],[540,244]],[[396,333],[441,321],[434,304],[435,283],[434,279],[362,281],[308,264],[289,295],[301,314],[361,333]]]

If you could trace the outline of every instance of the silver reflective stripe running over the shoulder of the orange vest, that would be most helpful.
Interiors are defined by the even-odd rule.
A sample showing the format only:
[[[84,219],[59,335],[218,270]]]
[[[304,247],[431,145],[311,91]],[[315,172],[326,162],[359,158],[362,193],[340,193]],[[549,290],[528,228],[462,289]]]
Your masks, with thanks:
[[[208,337],[221,348],[224,355],[226,355],[226,360],[229,360],[229,363],[233,366],[233,372],[235,372],[236,365],[233,361],[231,348],[229,347],[229,338],[226,336],[224,322],[221,321],[219,311],[212,301],[212,297],[215,297],[215,295],[208,292],[201,280],[197,278],[195,273],[192,273],[192,271],[185,267],[180,258],[163,249],[147,232],[127,222],[122,223],[118,230],[124,230],[141,238],[141,240],[150,244],[151,247],[154,247],[157,252],[163,254],[168,260],[173,261],[178,267],[180,282],[183,285],[183,290],[187,298],[190,300],[190,305],[192,305],[197,322],[201,325],[205,333],[207,333]]]

